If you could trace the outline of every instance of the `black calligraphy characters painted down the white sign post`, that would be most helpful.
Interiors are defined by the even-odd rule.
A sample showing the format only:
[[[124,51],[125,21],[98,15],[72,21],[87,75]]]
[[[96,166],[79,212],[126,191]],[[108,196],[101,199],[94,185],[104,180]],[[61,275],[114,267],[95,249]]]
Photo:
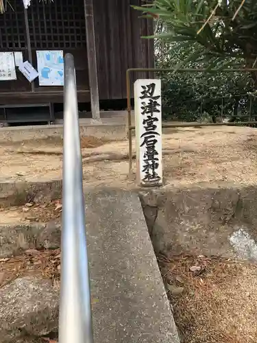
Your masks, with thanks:
[[[159,121],[157,113],[160,113],[160,95],[154,95],[156,91],[156,84],[151,83],[147,86],[141,86],[141,112],[144,116],[143,127],[144,131],[141,134],[140,139],[143,142],[140,147],[145,147],[143,155],[143,170],[145,173],[143,178],[144,182],[158,183],[160,181],[160,175],[158,175],[158,167],[160,164],[159,153],[156,150],[156,143],[158,143],[157,137],[160,136],[157,129],[157,123]]]

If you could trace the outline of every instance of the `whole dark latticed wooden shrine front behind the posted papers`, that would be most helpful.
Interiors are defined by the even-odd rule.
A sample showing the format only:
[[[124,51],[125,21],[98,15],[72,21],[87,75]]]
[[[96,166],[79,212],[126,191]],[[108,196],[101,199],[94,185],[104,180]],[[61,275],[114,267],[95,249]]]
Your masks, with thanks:
[[[23,51],[28,60],[23,1],[14,1],[0,15],[0,51]],[[36,50],[63,50],[74,56],[80,102],[90,101],[86,53],[84,0],[32,1],[27,9],[32,64],[37,69]],[[16,69],[17,80],[0,82],[0,104],[63,102],[62,86],[32,85]],[[88,91],[88,92],[85,92]]]

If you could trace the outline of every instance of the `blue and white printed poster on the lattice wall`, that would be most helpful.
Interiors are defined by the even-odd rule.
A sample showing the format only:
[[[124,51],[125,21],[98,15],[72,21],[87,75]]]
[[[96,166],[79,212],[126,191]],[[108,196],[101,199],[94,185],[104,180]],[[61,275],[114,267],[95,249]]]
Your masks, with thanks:
[[[64,85],[64,59],[62,50],[36,51],[40,86]]]

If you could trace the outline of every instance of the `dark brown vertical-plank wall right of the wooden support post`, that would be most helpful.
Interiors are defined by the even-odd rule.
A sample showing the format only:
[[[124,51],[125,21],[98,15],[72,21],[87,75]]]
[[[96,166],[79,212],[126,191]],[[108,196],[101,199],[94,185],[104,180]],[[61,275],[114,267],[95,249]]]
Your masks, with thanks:
[[[154,40],[141,38],[153,33],[153,21],[139,19],[140,12],[131,8],[141,3],[140,0],[94,1],[100,99],[124,99],[127,69],[154,67]],[[132,81],[145,76],[137,73],[132,75]]]

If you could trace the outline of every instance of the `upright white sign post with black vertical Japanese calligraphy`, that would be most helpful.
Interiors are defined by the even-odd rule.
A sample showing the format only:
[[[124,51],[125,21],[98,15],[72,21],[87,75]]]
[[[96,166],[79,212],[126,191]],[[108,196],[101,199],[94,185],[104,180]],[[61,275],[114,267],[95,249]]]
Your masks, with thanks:
[[[160,80],[134,83],[137,180],[162,185],[162,99]]]

